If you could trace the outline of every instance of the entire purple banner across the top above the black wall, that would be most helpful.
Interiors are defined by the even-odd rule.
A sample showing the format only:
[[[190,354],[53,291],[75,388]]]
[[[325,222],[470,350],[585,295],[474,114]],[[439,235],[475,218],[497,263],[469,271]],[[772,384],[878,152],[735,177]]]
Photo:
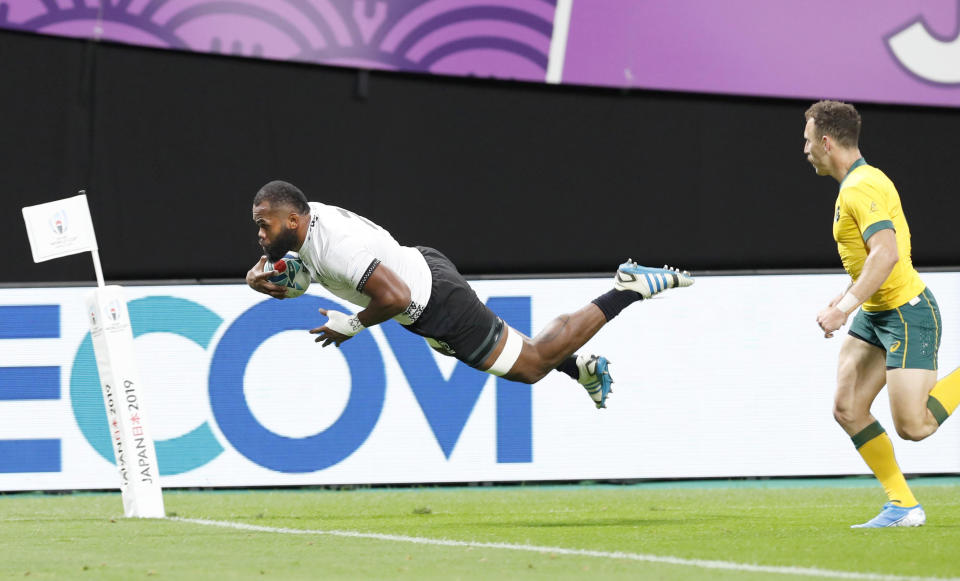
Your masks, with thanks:
[[[960,0],[0,0],[2,28],[442,75],[960,106]]]

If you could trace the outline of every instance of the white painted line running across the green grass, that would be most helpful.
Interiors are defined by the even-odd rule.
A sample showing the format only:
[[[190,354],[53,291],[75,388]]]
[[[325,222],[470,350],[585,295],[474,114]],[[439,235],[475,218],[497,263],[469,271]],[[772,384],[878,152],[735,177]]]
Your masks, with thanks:
[[[640,553],[622,553],[620,551],[589,551],[586,549],[567,549],[564,547],[544,547],[538,545],[514,545],[511,543],[480,543],[473,541],[452,541],[448,539],[430,539],[425,537],[408,537],[405,535],[386,535],[381,533],[360,533],[356,531],[321,531],[309,529],[288,529],[282,527],[265,527],[239,522],[207,520],[202,518],[170,517],[167,520],[208,525],[242,531],[257,531],[263,533],[281,533],[287,535],[329,535],[333,537],[348,537],[354,539],[376,539],[379,541],[395,541],[400,543],[414,543],[417,545],[437,545],[443,547],[470,547],[476,549],[506,549],[509,551],[528,551],[531,553],[553,553],[557,555],[575,555],[580,557],[603,557],[606,559],[623,559],[627,561],[646,561],[649,563],[666,563],[668,565],[684,565],[701,569],[727,569],[731,571],[748,571],[751,573],[779,573],[782,575],[800,575],[804,577],[825,577],[832,579],[866,579],[869,581],[960,581],[951,577],[913,577],[901,575],[881,575],[879,573],[856,573],[852,571],[831,571],[814,567],[777,567],[774,565],[750,565],[747,563],[733,563],[731,561],[708,561],[703,559],[681,559],[680,557],[664,557],[661,555],[644,555]]]

